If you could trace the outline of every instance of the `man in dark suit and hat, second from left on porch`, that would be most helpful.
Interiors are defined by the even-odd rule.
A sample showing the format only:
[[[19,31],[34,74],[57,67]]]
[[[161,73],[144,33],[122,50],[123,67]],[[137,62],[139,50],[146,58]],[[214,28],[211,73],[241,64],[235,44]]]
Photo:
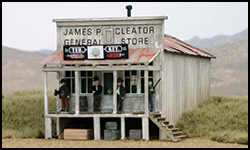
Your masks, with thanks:
[[[94,93],[94,111],[100,111],[101,104],[101,92],[102,86],[99,84],[99,78],[94,77],[94,85],[92,86],[92,92]]]

